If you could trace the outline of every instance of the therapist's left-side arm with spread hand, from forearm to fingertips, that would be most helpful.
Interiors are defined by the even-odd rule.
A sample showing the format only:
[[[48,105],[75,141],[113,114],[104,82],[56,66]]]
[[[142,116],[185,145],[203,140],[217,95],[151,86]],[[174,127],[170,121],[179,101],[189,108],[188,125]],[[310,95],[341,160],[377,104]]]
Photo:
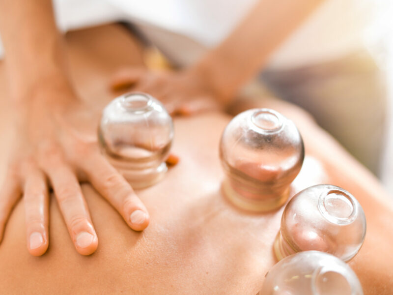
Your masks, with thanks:
[[[76,250],[93,253],[98,238],[80,181],[89,181],[132,229],[146,228],[146,208],[99,151],[99,113],[79,99],[70,83],[52,1],[0,0],[0,32],[10,86],[9,97],[1,99],[10,100],[15,119],[15,141],[0,188],[0,240],[23,196],[28,251],[45,253],[53,188]]]

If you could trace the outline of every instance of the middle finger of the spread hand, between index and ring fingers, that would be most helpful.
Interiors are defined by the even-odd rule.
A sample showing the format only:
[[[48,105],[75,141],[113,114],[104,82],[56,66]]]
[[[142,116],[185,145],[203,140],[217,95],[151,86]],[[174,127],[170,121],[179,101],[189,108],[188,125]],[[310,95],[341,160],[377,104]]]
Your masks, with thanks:
[[[91,222],[87,204],[75,173],[65,164],[53,163],[48,176],[76,250],[92,254],[98,246],[97,234]]]

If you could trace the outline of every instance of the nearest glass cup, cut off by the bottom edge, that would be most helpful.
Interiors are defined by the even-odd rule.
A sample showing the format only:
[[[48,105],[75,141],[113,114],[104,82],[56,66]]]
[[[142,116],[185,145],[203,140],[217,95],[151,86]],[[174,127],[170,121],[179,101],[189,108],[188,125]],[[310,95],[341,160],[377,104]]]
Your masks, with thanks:
[[[363,295],[363,290],[355,272],[342,260],[305,251],[273,266],[258,295]]]

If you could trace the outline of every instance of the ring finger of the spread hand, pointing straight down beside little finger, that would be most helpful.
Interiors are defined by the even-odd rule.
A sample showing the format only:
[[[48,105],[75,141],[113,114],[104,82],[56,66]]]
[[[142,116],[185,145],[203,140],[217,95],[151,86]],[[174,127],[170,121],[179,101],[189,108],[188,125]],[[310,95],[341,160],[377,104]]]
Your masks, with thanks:
[[[44,174],[35,169],[28,175],[24,188],[28,252],[40,256],[46,252],[48,239],[48,188]]]

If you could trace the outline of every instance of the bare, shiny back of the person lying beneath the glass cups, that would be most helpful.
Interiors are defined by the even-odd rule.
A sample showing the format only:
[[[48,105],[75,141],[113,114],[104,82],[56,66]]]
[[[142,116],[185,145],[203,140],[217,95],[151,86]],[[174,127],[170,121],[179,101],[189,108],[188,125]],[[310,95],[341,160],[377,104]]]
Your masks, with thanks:
[[[70,34],[70,69],[81,97],[97,107],[108,103],[113,97],[107,88],[111,74],[119,64],[136,62],[134,52],[129,36],[116,27]],[[3,75],[0,68],[0,77]],[[367,234],[349,265],[365,295],[391,294],[393,209],[389,196],[302,110],[258,96],[240,101],[232,111],[251,107],[281,112],[293,119],[302,133],[306,160],[291,195],[309,185],[328,182],[347,189],[359,200],[365,210]],[[6,106],[0,109],[5,139],[0,163],[5,165],[10,115]],[[137,192],[151,215],[149,227],[141,233],[132,231],[108,202],[89,184],[83,184],[100,239],[93,255],[81,256],[73,250],[52,197],[50,247],[42,257],[30,256],[25,246],[24,204],[20,202],[0,244],[1,293],[255,295],[276,263],[272,246],[283,207],[264,214],[248,213],[233,207],[221,194],[224,175],[218,145],[230,119],[220,113],[174,119],[172,151],[180,161],[163,181]],[[0,171],[4,175],[3,166]]]

